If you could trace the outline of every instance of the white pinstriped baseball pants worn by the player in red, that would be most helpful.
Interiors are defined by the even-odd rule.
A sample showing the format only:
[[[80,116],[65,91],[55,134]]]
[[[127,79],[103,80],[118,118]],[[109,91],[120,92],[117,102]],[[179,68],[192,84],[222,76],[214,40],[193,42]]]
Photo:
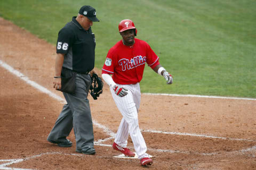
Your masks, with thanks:
[[[117,84],[117,86],[128,89],[128,94],[124,97],[119,97],[114,90],[110,88],[112,97],[117,108],[123,115],[122,121],[116,133],[115,142],[117,145],[126,148],[127,139],[130,137],[133,142],[134,149],[138,158],[148,157],[147,146],[140,132],[138,111],[140,107],[140,84]]]

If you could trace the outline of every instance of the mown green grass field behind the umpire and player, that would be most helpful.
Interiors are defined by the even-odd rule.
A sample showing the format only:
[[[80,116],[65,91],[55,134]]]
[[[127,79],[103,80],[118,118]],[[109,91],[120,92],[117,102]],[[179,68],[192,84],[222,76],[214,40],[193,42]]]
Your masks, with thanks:
[[[87,3],[97,10],[96,63],[121,36],[118,23],[132,19],[174,78],[171,86],[149,67],[141,91],[256,98],[256,1],[0,0],[0,16],[55,45],[58,31]]]

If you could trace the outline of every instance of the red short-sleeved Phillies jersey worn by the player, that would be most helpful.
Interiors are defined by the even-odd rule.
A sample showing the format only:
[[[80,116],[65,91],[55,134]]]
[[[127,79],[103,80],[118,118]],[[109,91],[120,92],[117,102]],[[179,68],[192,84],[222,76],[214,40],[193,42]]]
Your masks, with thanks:
[[[158,56],[148,43],[134,38],[133,46],[125,46],[118,41],[109,49],[102,74],[113,74],[118,84],[135,84],[141,81],[145,63],[152,69],[159,64]]]

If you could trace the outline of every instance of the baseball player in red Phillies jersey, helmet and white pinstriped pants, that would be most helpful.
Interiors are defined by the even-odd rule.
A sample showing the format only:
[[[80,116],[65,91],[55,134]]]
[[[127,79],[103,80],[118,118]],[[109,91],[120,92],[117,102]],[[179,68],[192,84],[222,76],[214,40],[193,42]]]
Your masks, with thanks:
[[[172,84],[172,75],[159,64],[158,56],[145,41],[134,38],[137,29],[131,20],[122,20],[118,29],[122,40],[109,49],[102,68],[102,78],[110,86],[116,106],[123,116],[113,148],[125,156],[134,157],[135,154],[126,147],[130,134],[140,165],[151,165],[153,160],[146,153],[147,146],[139,129],[139,82],[146,63],[156,73],[163,75],[167,84]]]

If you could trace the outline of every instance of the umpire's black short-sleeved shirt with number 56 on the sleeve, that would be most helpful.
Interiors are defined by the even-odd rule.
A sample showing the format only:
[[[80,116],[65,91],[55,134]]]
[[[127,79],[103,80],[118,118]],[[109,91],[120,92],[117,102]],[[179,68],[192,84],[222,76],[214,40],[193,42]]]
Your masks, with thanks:
[[[84,30],[73,16],[60,31],[57,53],[65,54],[62,67],[78,73],[86,73],[94,68],[95,36],[91,27]]]

